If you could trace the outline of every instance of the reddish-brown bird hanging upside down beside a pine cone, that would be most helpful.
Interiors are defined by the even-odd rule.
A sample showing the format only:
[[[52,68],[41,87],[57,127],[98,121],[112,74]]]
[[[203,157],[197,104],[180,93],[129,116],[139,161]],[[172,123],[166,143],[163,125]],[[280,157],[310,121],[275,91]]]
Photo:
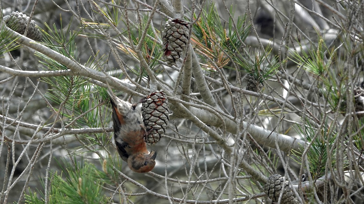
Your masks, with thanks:
[[[129,168],[138,173],[151,171],[155,166],[155,150],[147,150],[144,138],[147,135],[142,120],[141,108],[116,97],[106,82],[112,106],[114,138],[120,157]]]

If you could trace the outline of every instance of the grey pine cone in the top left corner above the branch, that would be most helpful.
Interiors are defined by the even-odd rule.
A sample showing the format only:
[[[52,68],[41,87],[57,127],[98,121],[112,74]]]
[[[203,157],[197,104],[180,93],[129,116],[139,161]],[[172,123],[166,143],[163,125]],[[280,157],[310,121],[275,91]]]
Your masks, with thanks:
[[[24,34],[29,17],[21,12],[12,12],[4,16],[5,24],[15,32]],[[42,38],[40,30],[35,26],[35,21],[31,20],[27,32],[27,37],[39,41]]]

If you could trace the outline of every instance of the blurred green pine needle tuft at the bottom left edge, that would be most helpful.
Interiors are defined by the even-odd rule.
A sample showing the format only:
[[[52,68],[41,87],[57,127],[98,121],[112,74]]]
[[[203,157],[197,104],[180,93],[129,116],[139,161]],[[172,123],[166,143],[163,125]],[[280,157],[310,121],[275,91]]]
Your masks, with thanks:
[[[74,158],[76,161],[76,158]],[[50,178],[50,191],[48,191],[48,203],[50,204],[84,204],[84,203],[109,203],[110,198],[105,195],[103,184],[113,184],[107,173],[98,170],[94,164],[87,163],[83,159],[76,161],[76,166],[70,162],[58,163],[62,172],[53,172]],[[25,203],[44,204],[44,194],[40,193],[40,199],[36,192],[25,194]]]

